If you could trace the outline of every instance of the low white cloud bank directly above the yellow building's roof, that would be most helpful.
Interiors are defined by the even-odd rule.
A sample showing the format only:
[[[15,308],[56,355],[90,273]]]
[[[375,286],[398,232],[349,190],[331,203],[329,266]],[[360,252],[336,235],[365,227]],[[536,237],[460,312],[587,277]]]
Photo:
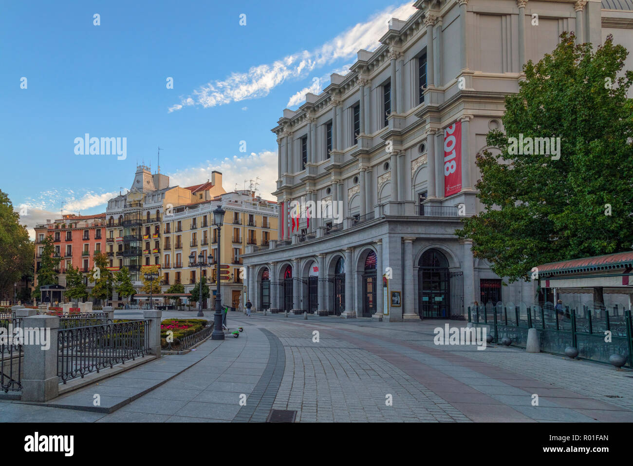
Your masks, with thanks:
[[[277,152],[264,151],[260,153],[252,152],[250,155],[238,157],[226,157],[219,163],[211,163],[206,160],[198,167],[190,167],[170,173],[171,186],[192,186],[203,183],[206,179],[211,179],[211,172],[217,170],[222,172],[222,186],[227,191],[244,189],[244,180],[259,177],[258,194],[264,199],[275,200],[271,195],[277,190]],[[246,187],[248,188],[248,181]]]

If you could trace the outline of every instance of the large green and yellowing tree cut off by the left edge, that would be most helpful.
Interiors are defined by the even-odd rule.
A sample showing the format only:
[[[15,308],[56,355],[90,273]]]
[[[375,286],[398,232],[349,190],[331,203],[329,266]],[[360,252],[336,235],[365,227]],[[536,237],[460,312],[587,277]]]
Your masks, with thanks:
[[[20,214],[13,211],[8,195],[0,190],[0,296],[11,295],[13,285],[33,265],[35,246]]]

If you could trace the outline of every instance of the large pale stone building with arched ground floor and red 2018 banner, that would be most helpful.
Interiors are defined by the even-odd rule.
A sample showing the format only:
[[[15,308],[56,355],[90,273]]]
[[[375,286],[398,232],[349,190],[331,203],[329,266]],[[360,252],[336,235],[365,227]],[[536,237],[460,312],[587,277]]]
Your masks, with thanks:
[[[351,72],[332,74],[272,129],[273,194],[287,221],[279,240],[242,256],[256,309],[403,321],[460,318],[474,302],[534,301],[532,283],[502,286],[454,235],[482,209],[475,156],[501,128],[523,63],[551,52],[561,32],[594,44],[613,34],[633,50],[633,2],[414,6],[408,20],[389,22],[375,51],[358,51]]]

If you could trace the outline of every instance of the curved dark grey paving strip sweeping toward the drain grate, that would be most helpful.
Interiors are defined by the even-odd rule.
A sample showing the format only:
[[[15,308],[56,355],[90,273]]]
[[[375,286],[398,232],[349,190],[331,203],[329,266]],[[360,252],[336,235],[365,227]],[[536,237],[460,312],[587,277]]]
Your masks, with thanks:
[[[285,370],[285,351],[281,341],[265,328],[259,329],[268,338],[270,353],[268,364],[253,391],[248,396],[246,406],[242,406],[233,422],[265,422],[273,407]]]

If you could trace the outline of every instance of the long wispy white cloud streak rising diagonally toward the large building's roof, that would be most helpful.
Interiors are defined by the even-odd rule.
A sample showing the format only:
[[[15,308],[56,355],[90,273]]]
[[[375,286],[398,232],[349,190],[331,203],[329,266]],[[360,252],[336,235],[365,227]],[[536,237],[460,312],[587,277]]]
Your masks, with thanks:
[[[389,6],[367,22],[354,25],[313,51],[287,55],[273,63],[251,67],[246,73],[235,72],[223,81],[208,82],[194,90],[192,95],[181,98],[179,104],[169,108],[169,112],[194,105],[208,108],[266,96],[287,79],[304,78],[313,70],[336,60],[352,58],[360,49],[377,48],[380,37],[385,34],[387,21],[391,18],[405,20],[414,11],[410,2]]]

